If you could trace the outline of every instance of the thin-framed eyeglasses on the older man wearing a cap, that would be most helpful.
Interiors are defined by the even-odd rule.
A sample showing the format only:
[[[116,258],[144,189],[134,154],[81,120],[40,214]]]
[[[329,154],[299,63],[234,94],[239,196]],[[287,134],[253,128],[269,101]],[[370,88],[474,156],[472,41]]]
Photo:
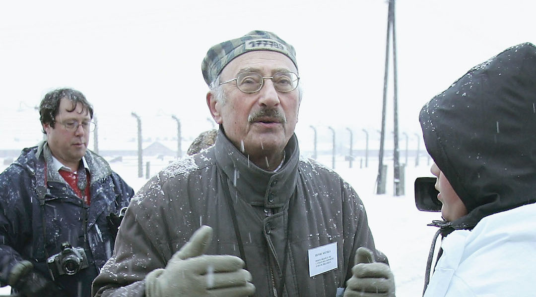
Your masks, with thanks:
[[[278,72],[273,76],[263,77],[256,72],[242,72],[236,76],[236,79],[220,83],[236,81],[236,87],[244,93],[258,92],[262,87],[265,79],[271,79],[273,87],[280,92],[294,91],[298,86],[300,77],[294,72]]]

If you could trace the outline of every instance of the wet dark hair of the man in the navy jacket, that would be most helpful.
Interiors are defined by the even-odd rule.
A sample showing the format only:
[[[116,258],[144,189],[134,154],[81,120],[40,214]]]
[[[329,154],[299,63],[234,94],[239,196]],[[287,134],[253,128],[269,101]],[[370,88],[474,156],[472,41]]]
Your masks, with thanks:
[[[93,106],[87,101],[83,93],[75,89],[61,88],[48,92],[41,100],[41,104],[39,104],[39,120],[41,124],[49,124],[50,127],[54,128],[56,115],[59,113],[59,103],[62,98],[71,100],[72,109],[68,110],[69,112],[74,111],[77,104],[80,103],[82,105],[80,113],[84,113],[87,108],[87,111],[90,112],[90,118],[93,119]],[[43,133],[45,133],[44,130]]]

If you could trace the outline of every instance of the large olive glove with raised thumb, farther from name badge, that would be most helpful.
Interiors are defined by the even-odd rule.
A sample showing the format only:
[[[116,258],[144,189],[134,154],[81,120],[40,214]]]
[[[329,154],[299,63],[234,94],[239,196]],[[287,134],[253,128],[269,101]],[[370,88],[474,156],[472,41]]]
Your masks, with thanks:
[[[249,296],[255,292],[244,261],[230,255],[204,255],[212,228],[201,226],[171,260],[166,269],[145,277],[147,297]]]

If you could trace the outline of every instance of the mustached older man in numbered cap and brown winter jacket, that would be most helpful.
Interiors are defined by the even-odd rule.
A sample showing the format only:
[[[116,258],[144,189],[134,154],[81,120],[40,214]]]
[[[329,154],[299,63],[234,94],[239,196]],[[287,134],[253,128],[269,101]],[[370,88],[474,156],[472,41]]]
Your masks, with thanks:
[[[253,31],[214,45],[202,71],[216,143],[133,198],[94,294],[336,296],[351,279],[348,296],[392,295],[358,195],[300,158],[294,48]]]

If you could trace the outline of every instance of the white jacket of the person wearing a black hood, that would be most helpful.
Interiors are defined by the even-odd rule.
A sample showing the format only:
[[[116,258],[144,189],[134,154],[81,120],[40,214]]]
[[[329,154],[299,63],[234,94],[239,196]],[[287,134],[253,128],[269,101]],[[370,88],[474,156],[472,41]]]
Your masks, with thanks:
[[[424,297],[536,296],[536,204],[486,216],[441,247]]]

